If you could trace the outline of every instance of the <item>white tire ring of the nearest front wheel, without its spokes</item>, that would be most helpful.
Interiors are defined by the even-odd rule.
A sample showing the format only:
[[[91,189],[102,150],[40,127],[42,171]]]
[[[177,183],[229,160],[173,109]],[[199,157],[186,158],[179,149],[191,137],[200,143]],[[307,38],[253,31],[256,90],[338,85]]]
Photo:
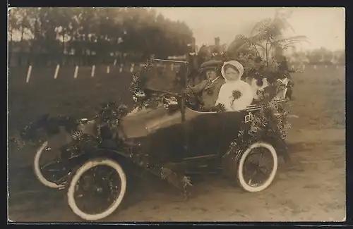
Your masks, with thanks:
[[[121,181],[120,193],[118,197],[115,199],[114,203],[102,213],[97,213],[97,214],[85,213],[81,211],[76,204],[76,200],[74,197],[76,184],[78,180],[80,180],[80,177],[83,175],[83,173],[88,171],[90,168],[93,168],[95,166],[103,166],[103,165],[114,168],[114,170],[119,174],[119,178]],[[97,221],[102,218],[106,218],[119,207],[122,200],[124,199],[125,192],[126,192],[126,175],[124,173],[123,168],[121,168],[121,166],[119,165],[119,163],[117,163],[116,161],[113,161],[112,159],[92,159],[84,163],[83,166],[80,166],[80,168],[78,168],[76,173],[73,174],[71,182],[68,185],[68,191],[67,191],[68,205],[70,206],[73,213],[75,213],[80,218],[83,218],[86,221]]]

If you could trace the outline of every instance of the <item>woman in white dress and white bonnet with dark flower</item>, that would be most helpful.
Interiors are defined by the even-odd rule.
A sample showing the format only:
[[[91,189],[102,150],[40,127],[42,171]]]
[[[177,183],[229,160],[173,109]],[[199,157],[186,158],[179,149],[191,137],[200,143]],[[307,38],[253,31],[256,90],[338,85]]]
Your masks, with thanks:
[[[217,104],[223,104],[225,111],[240,111],[246,109],[253,101],[251,86],[241,80],[244,67],[238,61],[223,63],[221,70],[225,84],[220,88]]]

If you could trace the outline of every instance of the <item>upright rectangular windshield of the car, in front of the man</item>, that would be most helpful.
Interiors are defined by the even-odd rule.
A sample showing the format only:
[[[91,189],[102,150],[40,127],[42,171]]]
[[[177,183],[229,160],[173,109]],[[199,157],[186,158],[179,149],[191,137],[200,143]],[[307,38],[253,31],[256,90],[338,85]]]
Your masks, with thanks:
[[[188,71],[188,63],[186,61],[168,61],[152,58],[151,63],[146,70],[141,72],[141,75],[146,78],[144,89],[177,94],[184,92]]]

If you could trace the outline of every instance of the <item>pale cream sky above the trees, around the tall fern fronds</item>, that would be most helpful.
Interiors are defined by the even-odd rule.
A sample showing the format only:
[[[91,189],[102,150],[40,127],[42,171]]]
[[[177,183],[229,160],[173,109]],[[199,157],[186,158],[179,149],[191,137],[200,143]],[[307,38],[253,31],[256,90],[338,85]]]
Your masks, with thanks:
[[[273,7],[154,9],[171,20],[181,20],[189,25],[198,47],[202,44],[214,44],[215,37],[220,37],[221,44],[229,45],[239,34],[249,36],[253,25],[259,20],[275,16]],[[292,11],[288,22],[295,33],[289,30],[285,35],[304,35],[310,42],[303,42],[297,49],[345,49],[345,8],[286,9]]]

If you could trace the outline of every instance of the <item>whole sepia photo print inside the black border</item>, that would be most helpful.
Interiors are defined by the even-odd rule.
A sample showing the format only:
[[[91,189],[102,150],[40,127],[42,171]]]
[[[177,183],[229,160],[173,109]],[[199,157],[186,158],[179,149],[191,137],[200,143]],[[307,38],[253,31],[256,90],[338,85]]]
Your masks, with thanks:
[[[8,8],[8,221],[345,221],[345,64],[345,8]]]

